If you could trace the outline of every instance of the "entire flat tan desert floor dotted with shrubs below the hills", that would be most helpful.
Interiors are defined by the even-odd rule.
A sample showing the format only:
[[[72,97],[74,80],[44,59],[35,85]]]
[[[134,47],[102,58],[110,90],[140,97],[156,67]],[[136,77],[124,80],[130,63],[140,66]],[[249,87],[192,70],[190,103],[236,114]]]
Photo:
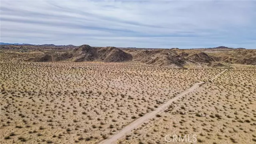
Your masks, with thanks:
[[[256,66],[230,67],[2,61],[0,143],[255,144]]]

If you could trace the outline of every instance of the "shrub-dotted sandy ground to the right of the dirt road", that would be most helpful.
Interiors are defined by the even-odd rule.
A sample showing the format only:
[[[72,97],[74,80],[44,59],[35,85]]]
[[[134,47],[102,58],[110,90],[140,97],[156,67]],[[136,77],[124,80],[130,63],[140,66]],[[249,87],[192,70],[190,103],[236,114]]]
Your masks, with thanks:
[[[186,144],[166,142],[165,136],[196,135],[197,141],[190,143],[255,144],[256,88],[248,87],[256,84],[255,74],[255,67],[236,65],[179,98],[168,110],[134,128],[116,143]],[[245,86],[236,85],[237,80]]]

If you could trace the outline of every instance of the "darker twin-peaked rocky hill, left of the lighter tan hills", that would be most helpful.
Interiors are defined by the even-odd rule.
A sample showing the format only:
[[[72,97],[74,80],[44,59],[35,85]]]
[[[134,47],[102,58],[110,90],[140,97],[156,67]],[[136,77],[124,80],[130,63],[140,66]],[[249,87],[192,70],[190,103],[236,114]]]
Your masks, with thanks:
[[[89,45],[82,45],[68,52],[47,52],[43,56],[31,58],[30,60],[36,62],[124,62],[132,60],[132,55],[115,47],[96,48]]]

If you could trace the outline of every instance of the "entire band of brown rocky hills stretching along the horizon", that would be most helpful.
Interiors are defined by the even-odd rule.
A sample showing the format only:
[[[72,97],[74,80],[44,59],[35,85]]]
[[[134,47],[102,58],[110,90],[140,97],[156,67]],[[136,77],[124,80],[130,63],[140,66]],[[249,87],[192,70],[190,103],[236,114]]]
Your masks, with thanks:
[[[40,50],[39,56],[31,55],[27,60],[36,62],[139,62],[154,66],[168,66],[184,68],[186,65],[210,66],[228,68],[220,63],[256,65],[256,50],[244,48],[216,48],[200,49],[152,49],[152,48],[116,48],[92,47],[82,45],[78,47],[64,46],[62,50],[48,46],[26,46],[27,50]],[[4,49],[14,49],[13,45],[5,45]],[[42,48],[42,49],[40,49]],[[21,50],[16,48],[14,50]],[[34,57],[33,57],[34,56]]]

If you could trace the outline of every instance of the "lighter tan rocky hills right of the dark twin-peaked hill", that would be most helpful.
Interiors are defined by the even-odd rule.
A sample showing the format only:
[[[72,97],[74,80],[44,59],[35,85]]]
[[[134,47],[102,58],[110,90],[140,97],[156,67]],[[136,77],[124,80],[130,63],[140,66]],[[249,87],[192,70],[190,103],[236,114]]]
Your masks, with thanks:
[[[125,49],[127,53],[132,54],[133,61],[144,64],[153,64],[156,66],[170,66],[183,68],[184,65],[204,64],[205,66],[215,68],[229,68],[220,64],[226,62],[231,64],[251,64],[256,65],[256,50],[247,50],[244,48],[228,48],[219,46],[216,48],[204,49],[143,49],[136,48]]]

